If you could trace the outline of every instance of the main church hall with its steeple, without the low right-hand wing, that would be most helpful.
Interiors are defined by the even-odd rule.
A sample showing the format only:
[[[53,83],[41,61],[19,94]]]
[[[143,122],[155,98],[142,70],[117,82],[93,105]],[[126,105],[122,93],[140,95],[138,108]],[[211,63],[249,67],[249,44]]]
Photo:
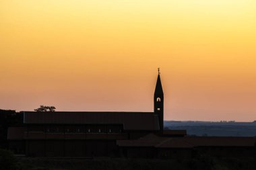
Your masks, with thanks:
[[[24,126],[8,130],[17,153],[39,157],[119,155],[117,140],[160,134],[164,92],[158,69],[154,112],[22,112]]]

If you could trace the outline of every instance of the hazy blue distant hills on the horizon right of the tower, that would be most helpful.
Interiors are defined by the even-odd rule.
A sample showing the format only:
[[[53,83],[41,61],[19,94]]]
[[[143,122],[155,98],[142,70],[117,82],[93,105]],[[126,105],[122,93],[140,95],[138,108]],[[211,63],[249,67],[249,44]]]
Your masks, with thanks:
[[[191,136],[256,136],[256,121],[164,121],[164,127],[169,129],[185,129],[187,134]]]

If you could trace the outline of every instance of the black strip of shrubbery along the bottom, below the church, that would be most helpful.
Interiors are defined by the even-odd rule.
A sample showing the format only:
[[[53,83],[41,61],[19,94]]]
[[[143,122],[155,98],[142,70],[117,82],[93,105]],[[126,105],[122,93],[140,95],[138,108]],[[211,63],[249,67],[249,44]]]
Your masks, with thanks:
[[[15,158],[9,151],[0,150],[0,169],[2,170],[214,170],[256,169],[255,158],[216,158],[199,155],[195,159],[47,159],[47,158]]]

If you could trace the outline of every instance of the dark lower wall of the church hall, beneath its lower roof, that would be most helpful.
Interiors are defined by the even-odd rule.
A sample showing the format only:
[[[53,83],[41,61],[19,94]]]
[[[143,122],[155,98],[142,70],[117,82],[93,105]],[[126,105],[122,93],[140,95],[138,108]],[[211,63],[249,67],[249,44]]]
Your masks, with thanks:
[[[14,148],[14,142],[10,144]],[[28,140],[31,157],[117,157],[116,140]]]

